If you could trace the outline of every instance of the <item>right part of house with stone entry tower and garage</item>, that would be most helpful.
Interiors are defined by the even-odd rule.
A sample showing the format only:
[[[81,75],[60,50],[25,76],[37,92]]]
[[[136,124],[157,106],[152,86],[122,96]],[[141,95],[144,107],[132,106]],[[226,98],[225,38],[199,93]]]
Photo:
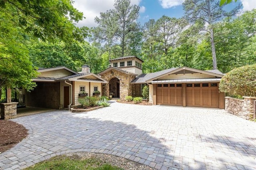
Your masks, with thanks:
[[[224,74],[218,70],[181,67],[142,74],[143,61],[136,56],[109,61],[110,67],[98,74],[108,82],[102,84],[102,95],[141,96],[144,85],[149,85],[153,105],[224,109],[225,94],[218,89]]]

